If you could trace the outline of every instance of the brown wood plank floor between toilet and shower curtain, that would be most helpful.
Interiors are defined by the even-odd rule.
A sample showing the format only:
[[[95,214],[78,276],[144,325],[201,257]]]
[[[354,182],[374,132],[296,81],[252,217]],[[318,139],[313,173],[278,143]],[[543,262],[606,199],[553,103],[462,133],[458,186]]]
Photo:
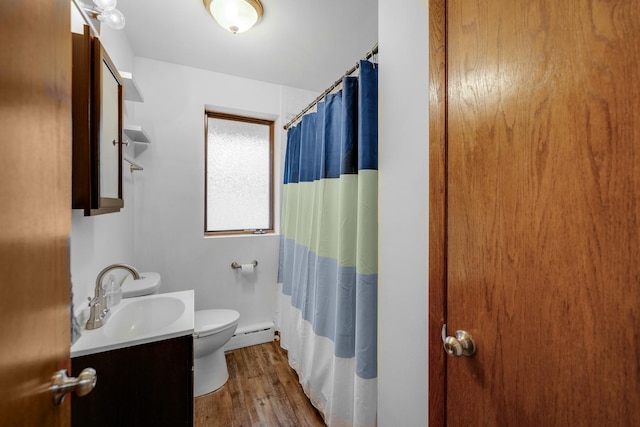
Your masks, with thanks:
[[[324,427],[279,342],[226,354],[229,381],[195,399],[195,427]]]

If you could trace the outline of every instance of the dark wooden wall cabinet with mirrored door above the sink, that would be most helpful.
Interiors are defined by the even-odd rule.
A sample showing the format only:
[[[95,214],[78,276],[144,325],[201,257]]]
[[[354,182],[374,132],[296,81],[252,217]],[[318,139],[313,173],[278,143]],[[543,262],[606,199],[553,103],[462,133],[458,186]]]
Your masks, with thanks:
[[[118,212],[124,206],[124,82],[89,27],[72,38],[72,208],[83,209],[86,216]]]

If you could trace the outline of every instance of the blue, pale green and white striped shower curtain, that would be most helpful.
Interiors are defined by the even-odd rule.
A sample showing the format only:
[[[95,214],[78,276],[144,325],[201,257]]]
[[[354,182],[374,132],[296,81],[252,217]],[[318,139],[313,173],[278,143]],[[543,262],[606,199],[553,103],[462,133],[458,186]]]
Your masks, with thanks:
[[[378,70],[287,134],[280,239],[281,345],[329,426],[375,426]]]

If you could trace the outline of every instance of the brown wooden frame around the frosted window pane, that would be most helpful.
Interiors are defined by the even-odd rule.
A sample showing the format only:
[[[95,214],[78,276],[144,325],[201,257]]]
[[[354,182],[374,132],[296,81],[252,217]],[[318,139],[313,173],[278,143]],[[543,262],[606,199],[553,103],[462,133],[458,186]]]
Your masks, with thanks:
[[[236,122],[266,125],[269,127],[269,228],[243,229],[243,230],[207,230],[207,206],[209,198],[208,189],[208,160],[209,160],[209,118],[232,120]],[[273,234],[275,232],[275,177],[274,177],[274,152],[275,152],[275,120],[260,119],[256,117],[242,116],[238,114],[221,113],[205,110],[204,112],[204,235],[207,236],[233,236],[233,235],[260,235]]]

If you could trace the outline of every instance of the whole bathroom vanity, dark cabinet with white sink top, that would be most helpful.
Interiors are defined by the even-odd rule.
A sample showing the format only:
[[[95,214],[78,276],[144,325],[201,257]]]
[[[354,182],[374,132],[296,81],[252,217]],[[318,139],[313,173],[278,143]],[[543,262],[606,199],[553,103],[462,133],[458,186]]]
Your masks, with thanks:
[[[104,326],[71,347],[75,375],[94,390],[73,397],[73,426],[193,425],[193,291],[123,299]]]

